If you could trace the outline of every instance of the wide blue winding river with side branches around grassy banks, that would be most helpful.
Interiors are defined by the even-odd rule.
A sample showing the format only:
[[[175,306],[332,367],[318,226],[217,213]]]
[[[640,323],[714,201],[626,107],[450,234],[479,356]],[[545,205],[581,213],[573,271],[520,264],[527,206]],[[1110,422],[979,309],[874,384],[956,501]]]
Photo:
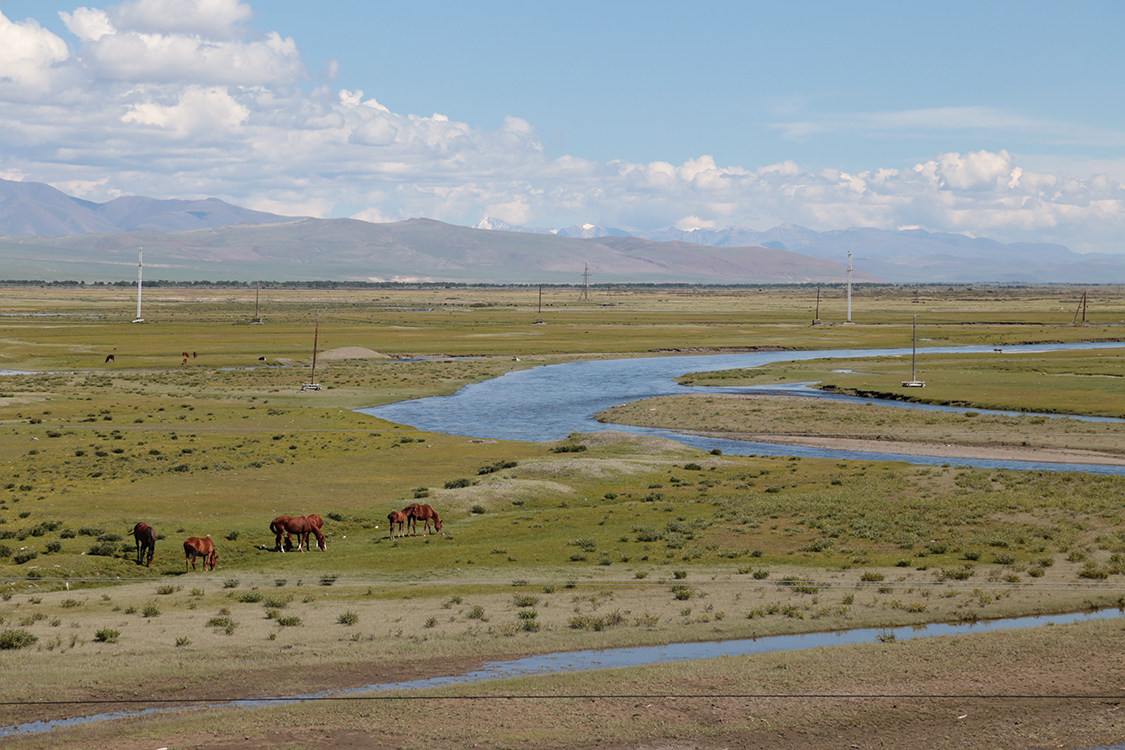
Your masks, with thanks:
[[[1048,352],[1068,349],[1122,349],[1125,343],[1035,344],[1005,346],[1005,355],[1022,352]],[[992,346],[943,346],[922,350],[927,354],[991,353]],[[772,362],[814,359],[847,359],[857,356],[909,355],[909,349],[830,350],[749,352],[741,354],[708,354],[699,356],[658,356],[626,360],[596,360],[551,364],[528,370],[513,370],[500,378],[472,383],[450,396],[434,396],[398,401],[359,409],[364,414],[406,424],[428,432],[439,432],[466,437],[492,440],[520,440],[544,442],[560,440],[572,432],[594,432],[606,426],[594,415],[611,406],[656,396],[682,394],[748,394],[772,392],[788,396],[808,396],[837,400],[872,401],[826,394],[800,386],[749,388],[716,388],[709,386],[681,386],[673,379],[688,372],[713,372],[735,368],[752,368]],[[902,408],[927,408],[964,412],[952,407],[881,401]],[[1012,414],[973,409],[983,414]],[[1061,416],[1061,415],[1043,415]],[[1079,417],[1081,418],[1081,417]],[[1086,417],[1090,418],[1090,417]],[[613,425],[613,430],[677,440],[703,450],[720,449],[736,455],[801,455],[808,458],[857,459],[865,461],[904,461],[909,463],[942,464],[955,461],[958,466],[986,469],[1082,471],[1086,473],[1122,475],[1125,467],[1108,464],[1072,464],[1043,461],[1012,461],[990,459],[950,459],[936,455],[907,455],[867,451],[844,451],[780,443],[755,443],[688,435],[670,430]]]

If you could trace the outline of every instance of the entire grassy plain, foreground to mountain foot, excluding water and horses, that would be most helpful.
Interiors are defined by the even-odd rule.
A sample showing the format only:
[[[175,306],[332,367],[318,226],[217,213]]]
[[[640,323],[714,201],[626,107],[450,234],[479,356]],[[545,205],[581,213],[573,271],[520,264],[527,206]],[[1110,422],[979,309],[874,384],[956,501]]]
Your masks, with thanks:
[[[938,444],[940,467],[704,453],[612,431],[422,433],[353,409],[578,359],[909,346],[972,409],[1125,416],[1118,287],[288,284],[3,288],[0,724],[453,675],[515,656],[1120,607],[1120,423],[692,396],[606,422]],[[264,320],[254,325],[255,309]],[[539,320],[542,320],[540,324]],[[313,369],[314,332],[317,340]],[[921,342],[925,338],[925,342]],[[987,345],[988,358],[926,346]],[[901,395],[909,360],[778,363],[723,386]],[[819,368],[819,370],[818,370]],[[928,368],[928,370],[927,370]],[[832,372],[848,370],[849,372]],[[702,376],[687,376],[704,385]],[[302,390],[315,381],[321,390]],[[1092,425],[1092,426],[1091,426]],[[928,448],[926,450],[929,450]],[[957,466],[1068,453],[1072,472]],[[1060,460],[1048,458],[1047,460]],[[390,539],[426,503],[441,533]],[[278,515],[327,550],[277,552]],[[152,567],[129,531],[158,532]],[[186,572],[209,535],[215,571]],[[1120,621],[723,658],[14,735],[15,748],[1042,748],[1125,739]]]

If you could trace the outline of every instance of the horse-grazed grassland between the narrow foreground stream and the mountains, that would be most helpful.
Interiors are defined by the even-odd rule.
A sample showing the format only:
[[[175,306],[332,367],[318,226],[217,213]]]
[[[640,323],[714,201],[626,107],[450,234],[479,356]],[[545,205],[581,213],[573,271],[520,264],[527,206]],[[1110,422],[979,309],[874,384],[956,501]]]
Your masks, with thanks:
[[[12,532],[0,540],[11,552],[0,627],[38,641],[0,656],[36,675],[6,680],[6,697],[125,695],[129,666],[154,658],[166,697],[202,695],[204,674],[249,694],[299,692],[325,658],[372,681],[434,654],[971,620],[1119,594],[1117,478],[711,457],[603,435],[476,442],[350,410],[580,356],[901,346],[918,305],[945,316],[930,328],[943,343],[1117,336],[1069,325],[1073,290],[914,302],[872,289],[870,323],[817,327],[808,289],[614,290],[590,304],[556,291],[543,326],[531,325],[533,289],[271,290],[264,326],[248,325],[245,289],[148,290],[143,325],[128,323],[127,289],[80,290],[78,302],[71,290],[12,291],[0,362],[39,373],[6,377],[0,396],[0,528]],[[32,315],[60,308],[73,319]],[[476,359],[328,359],[326,390],[302,392],[317,310],[322,350]],[[963,325],[986,315],[998,325]],[[198,356],[184,365],[183,351]],[[564,446],[586,450],[551,451]],[[447,534],[390,542],[387,510],[415,499],[442,512]],[[328,554],[260,549],[273,515],[312,512],[326,518]],[[142,517],[163,535],[152,569],[130,559]],[[205,533],[219,570],[182,576],[182,537]],[[96,544],[109,554],[89,554]],[[37,557],[17,562],[20,548]],[[134,582],[107,585],[118,577]],[[109,653],[97,685],[71,679]]]

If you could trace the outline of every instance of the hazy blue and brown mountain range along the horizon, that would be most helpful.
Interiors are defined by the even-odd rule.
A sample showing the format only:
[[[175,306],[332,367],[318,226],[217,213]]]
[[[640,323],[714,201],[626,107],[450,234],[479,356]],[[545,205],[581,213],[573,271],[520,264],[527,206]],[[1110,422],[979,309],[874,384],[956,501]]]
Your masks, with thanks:
[[[217,199],[96,204],[0,180],[0,278],[109,281],[385,280],[489,283],[1125,282],[1125,255],[921,231],[628,233],[585,224],[371,224],[254,211]]]

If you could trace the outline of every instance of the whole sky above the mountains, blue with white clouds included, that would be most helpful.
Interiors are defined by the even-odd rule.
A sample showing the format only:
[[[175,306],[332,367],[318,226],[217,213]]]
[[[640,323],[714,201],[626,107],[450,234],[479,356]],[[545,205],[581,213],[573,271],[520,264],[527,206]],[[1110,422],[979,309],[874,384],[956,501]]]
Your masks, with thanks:
[[[0,177],[90,200],[1125,252],[1119,0],[0,13]]]

